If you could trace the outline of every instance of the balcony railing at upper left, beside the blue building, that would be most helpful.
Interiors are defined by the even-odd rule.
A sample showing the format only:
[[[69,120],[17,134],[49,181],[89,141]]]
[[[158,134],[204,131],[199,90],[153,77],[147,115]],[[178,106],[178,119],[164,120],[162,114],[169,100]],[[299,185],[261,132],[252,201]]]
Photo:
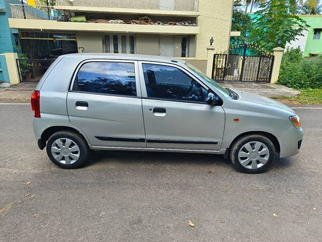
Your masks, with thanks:
[[[45,19],[68,21],[69,12],[63,13],[48,6],[11,4],[12,17],[15,19]]]

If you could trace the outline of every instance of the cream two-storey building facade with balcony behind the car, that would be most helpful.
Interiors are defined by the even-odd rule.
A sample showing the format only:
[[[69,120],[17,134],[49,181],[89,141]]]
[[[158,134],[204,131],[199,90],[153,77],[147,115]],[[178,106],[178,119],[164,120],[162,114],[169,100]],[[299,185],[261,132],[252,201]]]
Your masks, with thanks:
[[[232,8],[233,0],[56,0],[11,5],[9,25],[29,58],[78,51],[204,59],[211,37],[216,51],[228,49]]]

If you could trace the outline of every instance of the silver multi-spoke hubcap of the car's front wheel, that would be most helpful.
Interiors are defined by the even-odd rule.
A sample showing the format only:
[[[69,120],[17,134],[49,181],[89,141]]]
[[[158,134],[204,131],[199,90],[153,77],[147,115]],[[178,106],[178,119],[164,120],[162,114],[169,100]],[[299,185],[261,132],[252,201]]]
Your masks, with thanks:
[[[247,169],[258,169],[270,158],[270,151],[259,141],[248,142],[238,152],[239,163]]]

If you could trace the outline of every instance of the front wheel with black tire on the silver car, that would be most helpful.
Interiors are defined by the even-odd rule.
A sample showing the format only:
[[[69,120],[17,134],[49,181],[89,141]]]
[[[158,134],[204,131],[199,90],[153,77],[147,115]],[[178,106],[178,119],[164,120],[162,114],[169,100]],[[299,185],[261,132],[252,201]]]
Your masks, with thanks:
[[[238,138],[229,152],[229,159],[238,171],[253,174],[265,172],[272,165],[275,156],[274,144],[262,135]]]

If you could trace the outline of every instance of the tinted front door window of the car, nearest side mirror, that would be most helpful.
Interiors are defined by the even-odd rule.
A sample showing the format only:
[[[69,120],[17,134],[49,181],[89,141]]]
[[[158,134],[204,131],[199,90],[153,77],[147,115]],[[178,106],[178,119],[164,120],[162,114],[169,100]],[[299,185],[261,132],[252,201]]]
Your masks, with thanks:
[[[143,64],[143,73],[148,97],[206,102],[207,90],[176,67]]]

